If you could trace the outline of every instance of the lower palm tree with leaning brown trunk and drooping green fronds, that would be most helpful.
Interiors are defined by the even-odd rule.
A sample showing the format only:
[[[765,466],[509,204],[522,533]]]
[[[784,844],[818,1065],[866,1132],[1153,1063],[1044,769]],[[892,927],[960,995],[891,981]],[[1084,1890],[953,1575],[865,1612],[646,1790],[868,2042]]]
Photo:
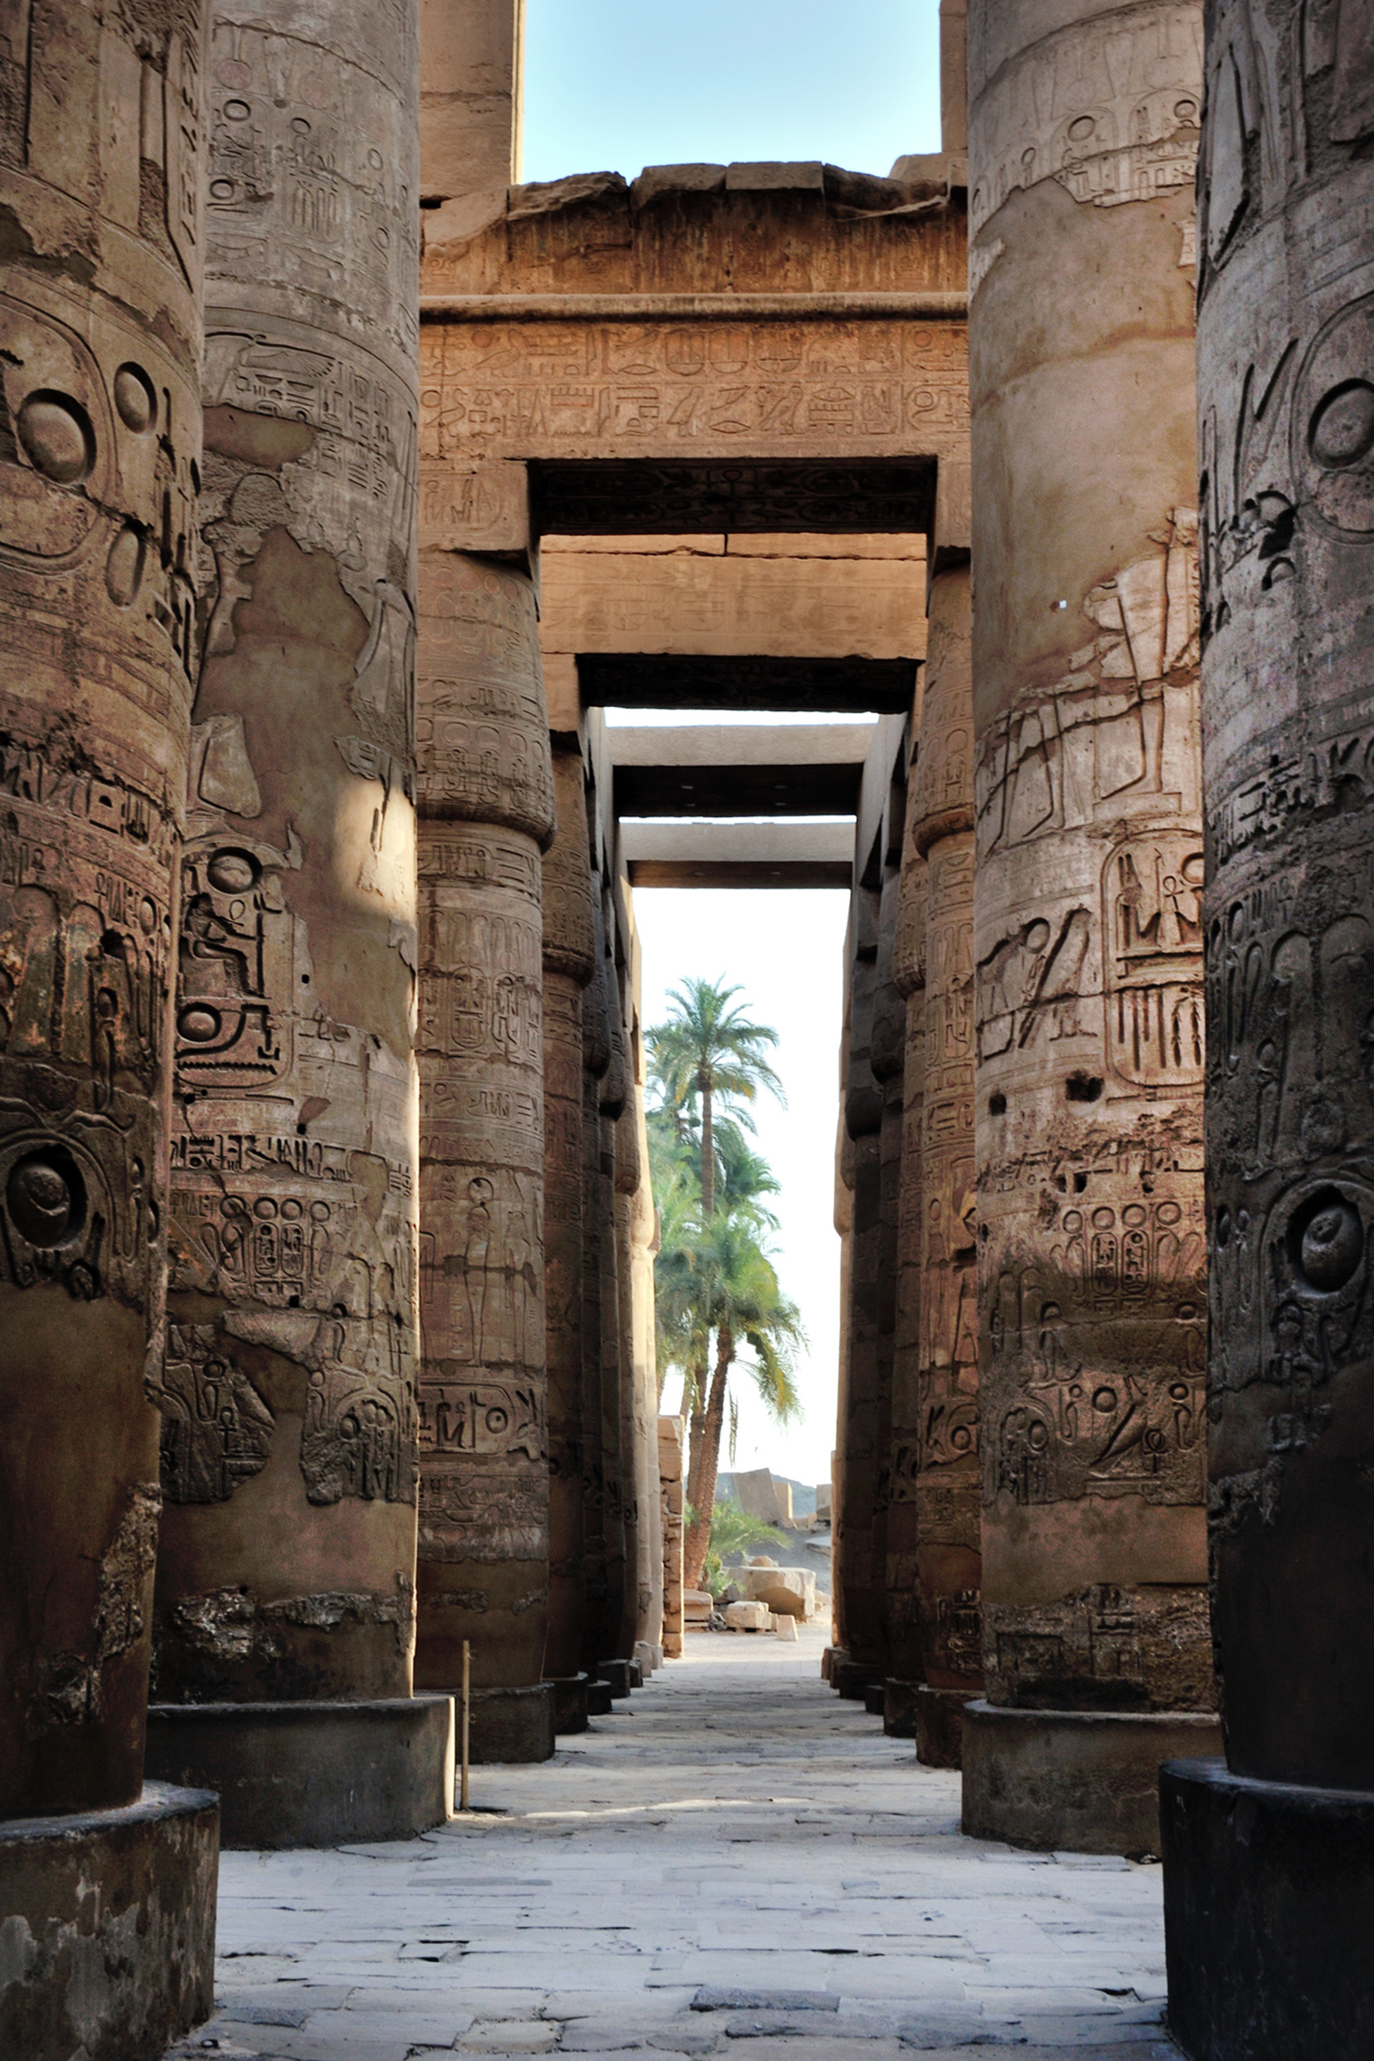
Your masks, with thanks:
[[[692,1523],[684,1548],[684,1581],[700,1587],[707,1550],[711,1546],[711,1513],[715,1509],[715,1478],[721,1465],[725,1401],[729,1375],[742,1346],[754,1354],[742,1362],[758,1395],[777,1424],[801,1414],[801,1397],[793,1381],[791,1352],[805,1344],[801,1315],[791,1303],[764,1251],[758,1226],[733,1210],[719,1210],[694,1241],[696,1321],[694,1336],[705,1340],[715,1331],[715,1366],[702,1397],[707,1358],[696,1362],[696,1395],[692,1412],[692,1465],[688,1502]]]

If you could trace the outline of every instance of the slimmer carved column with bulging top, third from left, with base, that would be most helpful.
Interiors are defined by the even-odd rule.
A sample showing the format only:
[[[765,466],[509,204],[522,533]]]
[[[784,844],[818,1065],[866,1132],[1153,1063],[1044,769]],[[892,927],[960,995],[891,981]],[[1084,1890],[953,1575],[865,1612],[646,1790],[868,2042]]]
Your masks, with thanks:
[[[420,589],[416,1680],[472,1649],[480,1760],[552,1754],[542,864],[554,787],[529,573],[426,550]]]

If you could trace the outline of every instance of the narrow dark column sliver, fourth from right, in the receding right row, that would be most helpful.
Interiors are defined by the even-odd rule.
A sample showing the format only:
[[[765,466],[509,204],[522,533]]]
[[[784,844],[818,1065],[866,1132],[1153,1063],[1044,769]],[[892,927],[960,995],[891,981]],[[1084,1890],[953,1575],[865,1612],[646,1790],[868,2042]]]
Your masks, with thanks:
[[[915,1737],[917,1686],[923,1680],[917,1455],[921,1443],[921,1150],[925,1109],[925,859],[911,835],[917,783],[908,779],[902,874],[892,944],[892,979],[906,1000],[902,1039],[902,1185],[896,1239],[896,1329],[892,1340],[892,1412],[888,1482],[888,1634],[892,1676],[884,1731]]]

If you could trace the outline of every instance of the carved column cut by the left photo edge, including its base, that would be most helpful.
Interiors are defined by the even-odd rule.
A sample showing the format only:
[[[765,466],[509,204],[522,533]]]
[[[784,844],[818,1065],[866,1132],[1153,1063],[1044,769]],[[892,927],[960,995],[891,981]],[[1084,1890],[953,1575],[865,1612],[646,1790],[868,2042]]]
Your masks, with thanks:
[[[0,1908],[43,1952],[0,1974],[0,2047],[115,2061],[212,2003],[214,1799],[144,1789],[206,21],[6,37]]]

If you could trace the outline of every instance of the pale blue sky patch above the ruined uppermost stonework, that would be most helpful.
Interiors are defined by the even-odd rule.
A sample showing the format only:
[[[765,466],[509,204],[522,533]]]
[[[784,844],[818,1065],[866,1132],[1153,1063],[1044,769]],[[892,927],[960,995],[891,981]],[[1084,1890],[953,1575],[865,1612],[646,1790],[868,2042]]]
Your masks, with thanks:
[[[937,0],[525,0],[519,177],[939,150]]]

